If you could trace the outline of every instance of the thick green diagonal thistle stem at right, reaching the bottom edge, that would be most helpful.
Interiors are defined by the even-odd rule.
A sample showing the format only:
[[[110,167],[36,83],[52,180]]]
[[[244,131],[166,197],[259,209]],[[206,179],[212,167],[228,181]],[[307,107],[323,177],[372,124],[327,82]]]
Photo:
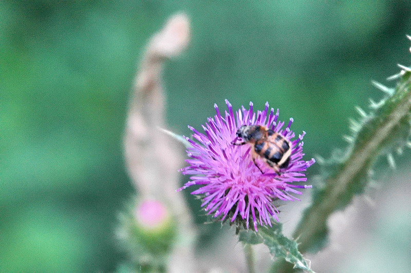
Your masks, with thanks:
[[[364,123],[346,159],[325,179],[325,187],[313,198],[304,212],[293,237],[298,238],[298,249],[304,253],[322,246],[330,215],[350,203],[354,194],[363,191],[366,176],[401,124],[409,123],[411,111],[410,73],[403,76],[395,94],[387,99],[375,116]],[[408,125],[409,126],[409,125]],[[316,249],[318,250],[318,249]],[[274,264],[272,272],[293,272],[285,261]]]

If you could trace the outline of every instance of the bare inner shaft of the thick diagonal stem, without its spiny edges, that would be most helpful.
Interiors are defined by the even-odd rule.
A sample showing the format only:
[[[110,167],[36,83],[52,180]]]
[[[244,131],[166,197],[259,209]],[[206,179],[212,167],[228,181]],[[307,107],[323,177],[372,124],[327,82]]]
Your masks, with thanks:
[[[304,217],[294,236],[300,236],[300,251],[309,251],[313,246],[313,238],[317,233],[326,228],[327,220],[332,212],[339,209],[342,198],[347,192],[352,192],[353,187],[358,187],[361,177],[367,175],[367,171],[375,161],[384,144],[395,133],[396,126],[405,118],[407,119],[411,109],[411,79],[402,83],[397,89],[393,100],[389,100],[381,111],[380,116],[375,116],[375,122],[367,132],[358,135],[357,143],[353,146],[349,157],[340,164],[340,168],[328,177],[326,186],[321,196],[316,198],[312,205],[304,213]],[[374,126],[372,126],[374,125]],[[364,137],[364,139],[359,139]]]

